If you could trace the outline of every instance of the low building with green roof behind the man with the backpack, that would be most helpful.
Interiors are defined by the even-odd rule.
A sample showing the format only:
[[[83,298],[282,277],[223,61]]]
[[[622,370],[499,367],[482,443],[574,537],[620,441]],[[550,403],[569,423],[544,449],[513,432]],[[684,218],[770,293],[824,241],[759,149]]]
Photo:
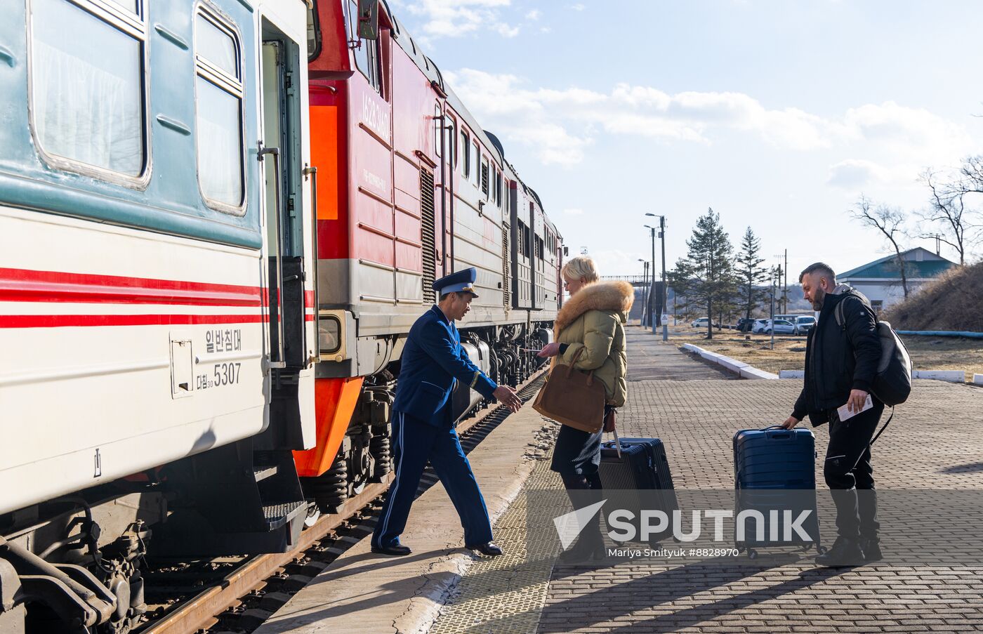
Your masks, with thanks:
[[[957,264],[927,249],[915,247],[901,252],[908,293],[918,290]],[[846,272],[837,274],[837,281],[849,284],[870,300],[875,310],[882,310],[904,299],[901,286],[901,267],[897,256],[875,259]]]

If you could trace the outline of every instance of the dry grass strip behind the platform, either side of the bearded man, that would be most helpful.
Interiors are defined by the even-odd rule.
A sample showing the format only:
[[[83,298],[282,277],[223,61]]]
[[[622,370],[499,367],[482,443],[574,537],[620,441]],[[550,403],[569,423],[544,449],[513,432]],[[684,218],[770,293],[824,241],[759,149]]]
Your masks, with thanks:
[[[801,370],[805,364],[805,337],[776,335],[772,350],[771,336],[764,334],[715,330],[713,340],[708,340],[706,331],[684,327],[672,331],[674,342],[692,343],[766,372]],[[983,375],[983,339],[917,336],[903,339],[915,370],[961,370],[969,380],[973,374]]]

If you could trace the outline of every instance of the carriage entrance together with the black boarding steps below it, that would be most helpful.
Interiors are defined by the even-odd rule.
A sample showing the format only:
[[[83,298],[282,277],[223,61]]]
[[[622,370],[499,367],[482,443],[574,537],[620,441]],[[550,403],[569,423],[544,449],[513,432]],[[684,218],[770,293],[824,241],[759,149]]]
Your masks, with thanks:
[[[260,79],[246,90],[252,103],[259,102],[260,140],[251,144],[249,156],[260,159],[262,173],[264,246],[258,265],[266,309],[266,428],[171,470],[169,483],[190,491],[190,503],[174,508],[164,526],[154,529],[159,554],[282,552],[297,543],[307,517],[292,453],[304,448],[305,440],[313,443],[315,435],[308,350],[314,336],[306,331],[308,323],[313,326],[313,316],[310,322],[307,316],[313,292],[305,288],[311,285],[305,277],[313,239],[304,214],[312,208],[310,184],[304,182],[307,76],[298,43],[305,37],[305,7],[279,1],[259,5],[259,33],[246,48],[258,62]],[[189,540],[189,535],[196,537]]]

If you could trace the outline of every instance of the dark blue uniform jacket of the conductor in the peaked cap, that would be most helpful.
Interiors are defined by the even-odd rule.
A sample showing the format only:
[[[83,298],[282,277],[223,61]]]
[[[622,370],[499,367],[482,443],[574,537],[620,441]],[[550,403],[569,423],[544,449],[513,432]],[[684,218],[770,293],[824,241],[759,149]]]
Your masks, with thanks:
[[[485,398],[492,398],[498,387],[468,358],[453,321],[433,306],[410,328],[392,408],[441,426],[443,419],[438,419],[436,413],[447,405],[454,379],[470,385]]]

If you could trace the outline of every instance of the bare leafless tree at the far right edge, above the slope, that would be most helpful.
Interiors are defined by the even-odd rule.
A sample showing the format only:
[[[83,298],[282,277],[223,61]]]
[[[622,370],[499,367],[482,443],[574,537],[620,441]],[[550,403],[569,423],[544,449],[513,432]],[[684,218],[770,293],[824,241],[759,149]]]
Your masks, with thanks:
[[[939,173],[932,170],[922,174],[931,197],[929,208],[918,215],[928,223],[941,226],[944,233],[926,233],[919,237],[938,236],[959,254],[959,264],[965,264],[966,250],[979,240],[980,225],[972,221],[976,212],[966,207],[964,198],[970,194],[983,194],[983,157],[964,159],[959,173],[961,178],[953,181],[942,180]]]

